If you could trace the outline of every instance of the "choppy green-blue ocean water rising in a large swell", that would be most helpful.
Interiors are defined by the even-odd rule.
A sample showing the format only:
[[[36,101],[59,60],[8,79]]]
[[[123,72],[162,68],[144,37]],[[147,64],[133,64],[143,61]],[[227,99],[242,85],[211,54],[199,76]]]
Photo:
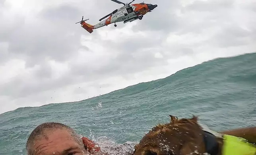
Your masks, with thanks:
[[[256,125],[256,53],[211,60],[80,102],[1,114],[0,155],[25,155],[30,132],[46,121],[69,125],[103,150],[121,155],[132,152],[157,123],[167,123],[169,115],[198,115],[215,131]]]

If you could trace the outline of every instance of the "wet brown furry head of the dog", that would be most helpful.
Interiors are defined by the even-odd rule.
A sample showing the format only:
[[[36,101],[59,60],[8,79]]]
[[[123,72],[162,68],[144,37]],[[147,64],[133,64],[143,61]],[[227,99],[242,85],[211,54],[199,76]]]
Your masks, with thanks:
[[[133,155],[187,155],[204,153],[204,137],[198,117],[178,119],[152,128],[135,146]]]

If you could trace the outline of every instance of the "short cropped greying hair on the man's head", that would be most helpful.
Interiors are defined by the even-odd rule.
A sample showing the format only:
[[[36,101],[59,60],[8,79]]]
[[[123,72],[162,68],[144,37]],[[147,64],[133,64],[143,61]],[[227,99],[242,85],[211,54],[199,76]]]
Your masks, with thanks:
[[[41,138],[46,138],[48,139],[47,132],[51,132],[57,129],[64,129],[68,130],[70,132],[70,135],[74,138],[74,140],[78,143],[81,144],[80,137],[76,132],[70,128],[67,125],[64,125],[62,123],[55,123],[55,122],[47,122],[47,123],[42,123],[41,125],[37,126],[29,135],[26,143],[26,151],[27,155],[33,155],[34,150],[33,146],[37,140],[40,140]]]

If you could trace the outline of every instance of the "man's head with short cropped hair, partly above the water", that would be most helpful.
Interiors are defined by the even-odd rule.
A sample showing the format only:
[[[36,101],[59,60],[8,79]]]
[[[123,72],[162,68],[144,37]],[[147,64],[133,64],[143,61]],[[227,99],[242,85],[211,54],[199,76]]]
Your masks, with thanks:
[[[27,155],[85,155],[82,140],[67,125],[43,123],[29,135]]]

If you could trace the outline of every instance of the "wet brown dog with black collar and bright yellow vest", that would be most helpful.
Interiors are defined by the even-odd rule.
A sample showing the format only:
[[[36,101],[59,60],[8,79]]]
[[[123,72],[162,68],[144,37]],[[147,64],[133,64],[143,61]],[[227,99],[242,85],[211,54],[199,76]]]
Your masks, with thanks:
[[[198,125],[198,117],[193,116],[190,119],[178,119],[175,116],[169,116],[171,117],[170,123],[165,125],[159,124],[152,128],[140,140],[140,143],[135,146],[133,155],[203,155],[206,152],[211,155],[235,155],[237,153],[237,155],[240,155],[239,151],[233,149],[232,145],[234,142],[227,143],[225,142],[226,139],[222,136],[214,136],[204,131]],[[250,143],[256,143],[256,127],[224,131],[221,133],[242,137]],[[223,149],[224,142],[226,146],[225,150]],[[253,144],[244,145],[247,145],[247,143],[238,143],[238,146],[241,146],[242,149],[245,148],[248,150],[247,154],[246,152],[242,152],[243,154],[256,155],[256,146],[252,146]],[[229,150],[227,151],[227,149]],[[243,150],[240,149],[240,151]]]

